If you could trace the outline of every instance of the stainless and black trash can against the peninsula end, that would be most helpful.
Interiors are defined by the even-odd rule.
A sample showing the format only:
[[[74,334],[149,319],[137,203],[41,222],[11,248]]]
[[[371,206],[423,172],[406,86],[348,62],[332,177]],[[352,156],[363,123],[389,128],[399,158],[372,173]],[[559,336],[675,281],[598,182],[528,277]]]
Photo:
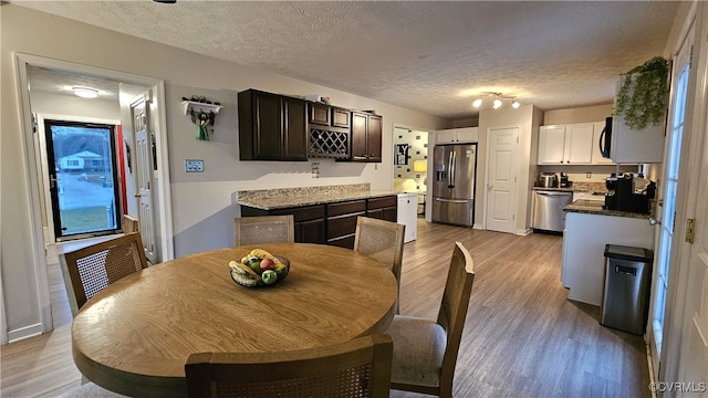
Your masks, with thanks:
[[[600,323],[643,335],[649,310],[654,253],[642,248],[605,245],[605,277]]]

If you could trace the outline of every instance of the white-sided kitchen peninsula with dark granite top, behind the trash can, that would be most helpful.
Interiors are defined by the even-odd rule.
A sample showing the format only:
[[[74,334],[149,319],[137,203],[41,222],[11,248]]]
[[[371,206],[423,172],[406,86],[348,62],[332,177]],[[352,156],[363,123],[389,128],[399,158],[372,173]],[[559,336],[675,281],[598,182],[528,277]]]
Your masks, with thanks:
[[[649,214],[603,209],[604,201],[575,200],[565,211],[561,283],[568,298],[600,306],[605,244],[644,249],[654,245]]]

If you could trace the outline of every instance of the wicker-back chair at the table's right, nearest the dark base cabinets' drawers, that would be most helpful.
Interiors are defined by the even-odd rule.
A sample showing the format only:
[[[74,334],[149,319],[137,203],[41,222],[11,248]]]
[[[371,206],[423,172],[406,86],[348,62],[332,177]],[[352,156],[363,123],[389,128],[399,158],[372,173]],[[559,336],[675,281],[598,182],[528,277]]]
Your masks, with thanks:
[[[400,291],[400,264],[403,263],[403,240],[406,234],[406,226],[374,219],[369,217],[356,218],[356,234],[354,235],[354,250],[378,260],[388,266],[396,276],[398,291]],[[399,295],[396,295],[399,297]],[[396,298],[396,314],[398,311]]]

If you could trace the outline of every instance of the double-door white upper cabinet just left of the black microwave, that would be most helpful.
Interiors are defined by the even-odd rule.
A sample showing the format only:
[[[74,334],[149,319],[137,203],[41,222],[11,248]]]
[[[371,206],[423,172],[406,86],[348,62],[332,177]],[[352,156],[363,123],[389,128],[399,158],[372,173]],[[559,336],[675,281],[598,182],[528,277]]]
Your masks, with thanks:
[[[539,165],[592,165],[593,123],[541,126]],[[597,138],[600,139],[600,138]]]

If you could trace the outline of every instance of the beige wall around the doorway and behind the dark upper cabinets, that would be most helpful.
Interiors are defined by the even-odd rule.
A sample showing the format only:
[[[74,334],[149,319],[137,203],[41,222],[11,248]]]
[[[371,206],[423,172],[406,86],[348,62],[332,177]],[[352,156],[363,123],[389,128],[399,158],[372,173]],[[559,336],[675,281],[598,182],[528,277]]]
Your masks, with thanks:
[[[37,232],[31,212],[37,211],[29,186],[19,92],[13,53],[27,53],[112,71],[164,80],[167,95],[167,137],[175,255],[232,244],[232,219],[238,216],[233,192],[243,189],[371,182],[372,189],[393,185],[392,134],[394,123],[439,129],[449,121],[384,104],[258,70],[246,69],[176,48],[77,23],[14,4],[0,7],[1,128],[0,146],[0,252],[2,294],[7,329],[18,335],[41,322],[41,303],[35,264]],[[186,31],[185,34],[192,34]],[[321,178],[314,180],[308,163],[239,161],[236,93],[247,88],[306,95],[321,93],[334,105],[376,109],[384,118],[382,164],[335,164],[320,161]],[[194,138],[194,126],[179,106],[185,94],[221,100],[211,142]],[[204,174],[184,172],[184,159],[205,160]]]

